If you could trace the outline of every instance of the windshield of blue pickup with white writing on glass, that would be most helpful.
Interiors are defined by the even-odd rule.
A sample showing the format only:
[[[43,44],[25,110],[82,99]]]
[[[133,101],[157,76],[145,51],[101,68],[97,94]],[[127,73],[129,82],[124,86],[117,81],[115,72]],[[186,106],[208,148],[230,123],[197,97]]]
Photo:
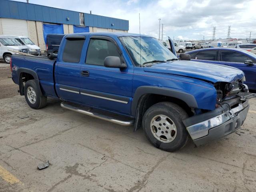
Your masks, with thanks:
[[[141,66],[151,61],[166,62],[166,60],[177,59],[177,57],[156,38],[126,36],[120,37],[119,39],[128,50],[136,66]]]

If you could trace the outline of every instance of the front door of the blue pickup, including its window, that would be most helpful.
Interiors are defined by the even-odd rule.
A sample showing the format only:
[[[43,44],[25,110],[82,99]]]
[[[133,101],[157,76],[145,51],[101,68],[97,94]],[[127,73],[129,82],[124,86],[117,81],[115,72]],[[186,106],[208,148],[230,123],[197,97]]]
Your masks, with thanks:
[[[122,62],[125,62],[114,39],[106,36],[91,36],[86,61],[82,64],[80,72],[82,102],[95,108],[129,115],[133,67],[107,68],[104,66],[107,56],[118,56]]]

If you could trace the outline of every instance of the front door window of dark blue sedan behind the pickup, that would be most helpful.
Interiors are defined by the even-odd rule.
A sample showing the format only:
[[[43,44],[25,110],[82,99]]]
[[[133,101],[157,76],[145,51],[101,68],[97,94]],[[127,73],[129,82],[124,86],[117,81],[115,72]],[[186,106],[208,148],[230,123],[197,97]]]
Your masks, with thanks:
[[[224,62],[244,63],[248,57],[233,51],[221,51],[221,58]]]

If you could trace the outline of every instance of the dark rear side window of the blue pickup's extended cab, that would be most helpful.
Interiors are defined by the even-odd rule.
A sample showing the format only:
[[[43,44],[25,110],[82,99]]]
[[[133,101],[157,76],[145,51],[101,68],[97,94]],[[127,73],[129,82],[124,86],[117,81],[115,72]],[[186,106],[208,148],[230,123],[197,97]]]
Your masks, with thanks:
[[[80,61],[84,39],[66,39],[62,60],[64,62],[78,63]]]

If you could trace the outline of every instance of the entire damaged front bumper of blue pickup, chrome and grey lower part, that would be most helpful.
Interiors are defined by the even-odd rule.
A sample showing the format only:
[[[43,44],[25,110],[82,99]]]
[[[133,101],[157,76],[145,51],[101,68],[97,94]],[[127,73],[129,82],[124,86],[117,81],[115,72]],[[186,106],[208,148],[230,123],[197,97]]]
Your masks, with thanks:
[[[248,110],[249,100],[246,100],[245,102],[238,104],[238,106],[230,110],[223,110],[221,114],[202,122],[200,122],[200,115],[197,115],[191,117],[190,120],[192,119],[194,120],[193,122],[195,122],[196,118],[199,117],[198,123],[186,126],[188,123],[186,123],[185,120],[184,124],[192,140],[197,145],[201,145],[210,140],[221,138],[234,132],[244,123]]]

